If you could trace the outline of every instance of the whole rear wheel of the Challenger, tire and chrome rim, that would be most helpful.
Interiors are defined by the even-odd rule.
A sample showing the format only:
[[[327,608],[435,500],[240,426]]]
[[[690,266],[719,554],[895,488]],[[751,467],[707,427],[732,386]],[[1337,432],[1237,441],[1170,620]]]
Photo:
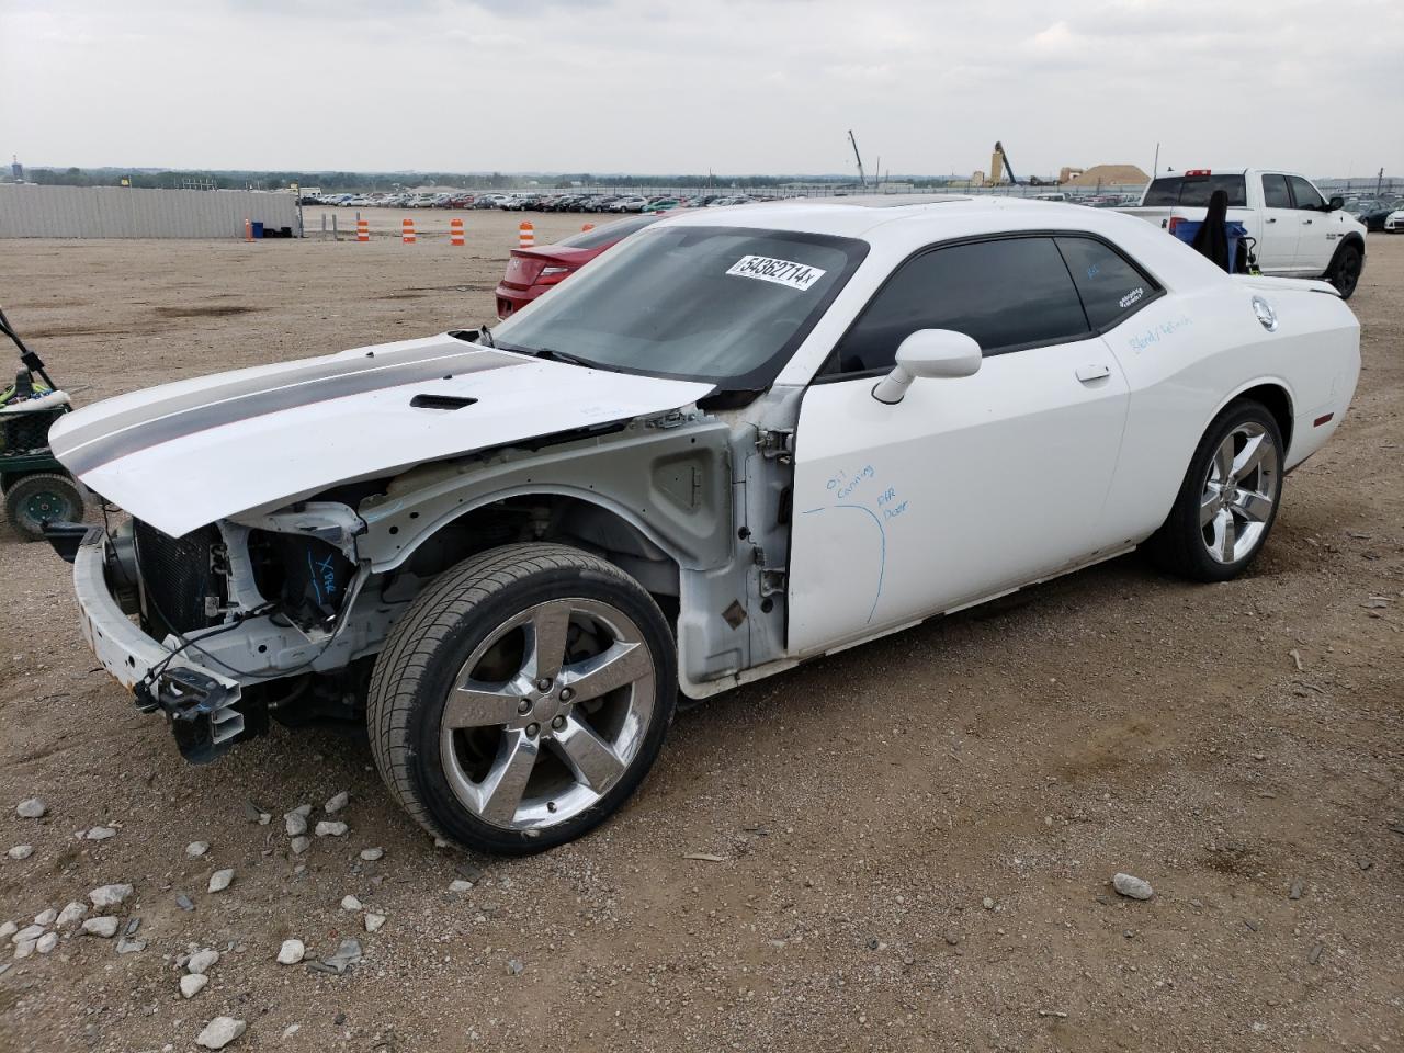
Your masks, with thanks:
[[[1209,425],[1151,559],[1193,581],[1237,577],[1262,549],[1282,498],[1282,432],[1262,403],[1240,400]]]

